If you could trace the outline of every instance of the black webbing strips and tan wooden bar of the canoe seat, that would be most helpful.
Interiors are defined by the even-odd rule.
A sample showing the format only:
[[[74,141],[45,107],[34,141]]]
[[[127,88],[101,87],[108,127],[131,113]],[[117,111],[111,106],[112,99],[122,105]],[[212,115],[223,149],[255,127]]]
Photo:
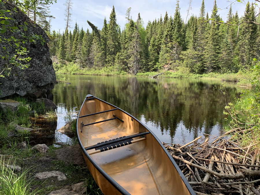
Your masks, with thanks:
[[[125,136],[124,136],[124,137],[125,137]],[[119,148],[119,147],[122,147],[122,146],[127,146],[127,145],[129,145],[129,144],[133,144],[133,143],[136,143],[136,142],[141,142],[141,141],[144,141],[144,140],[146,140],[146,138],[140,138],[140,139],[137,139],[137,140],[128,139],[128,140],[125,140],[125,141],[122,141],[122,142],[117,142],[117,143],[114,143],[114,144],[109,144],[109,145],[102,146],[102,147],[100,147],[100,148],[95,148],[96,151],[90,152],[90,153],[88,153],[88,154],[89,154],[89,155],[92,155],[92,154],[104,152],[104,151],[107,151],[107,150],[111,150],[111,149],[114,149],[114,148]]]

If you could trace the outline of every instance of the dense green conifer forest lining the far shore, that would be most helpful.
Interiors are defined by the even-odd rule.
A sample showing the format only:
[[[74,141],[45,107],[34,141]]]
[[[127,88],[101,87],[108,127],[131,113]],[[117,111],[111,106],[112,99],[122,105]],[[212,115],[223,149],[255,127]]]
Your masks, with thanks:
[[[149,21],[146,28],[140,14],[134,21],[130,12],[131,8],[122,31],[113,6],[101,30],[88,21],[92,32],[79,29],[77,23],[73,32],[49,32],[50,52],[58,58],[55,68],[73,62],[80,68],[112,66],[133,75],[163,66],[182,66],[195,74],[231,73],[249,68],[253,58],[260,58],[260,15],[256,17],[254,4],[247,3],[240,18],[230,6],[226,23],[218,14],[216,0],[210,16],[205,13],[203,0],[199,16],[192,15],[186,24],[179,1],[174,16],[166,12],[164,18]]]

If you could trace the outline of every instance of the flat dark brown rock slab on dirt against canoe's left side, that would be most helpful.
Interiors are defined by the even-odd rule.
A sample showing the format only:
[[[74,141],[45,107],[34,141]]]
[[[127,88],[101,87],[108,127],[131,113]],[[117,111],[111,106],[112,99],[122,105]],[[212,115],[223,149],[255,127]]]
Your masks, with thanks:
[[[55,154],[57,159],[63,160],[66,164],[74,163],[83,167],[87,166],[79,144],[55,150]]]

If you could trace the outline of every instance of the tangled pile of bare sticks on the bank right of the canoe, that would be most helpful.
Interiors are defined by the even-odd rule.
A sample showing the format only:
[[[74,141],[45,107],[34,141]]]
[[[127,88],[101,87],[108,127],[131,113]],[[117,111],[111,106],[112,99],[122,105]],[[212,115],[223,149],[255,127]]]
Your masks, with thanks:
[[[163,144],[197,195],[260,195],[258,150],[253,143],[239,147],[227,134],[201,144],[202,136],[183,146]]]

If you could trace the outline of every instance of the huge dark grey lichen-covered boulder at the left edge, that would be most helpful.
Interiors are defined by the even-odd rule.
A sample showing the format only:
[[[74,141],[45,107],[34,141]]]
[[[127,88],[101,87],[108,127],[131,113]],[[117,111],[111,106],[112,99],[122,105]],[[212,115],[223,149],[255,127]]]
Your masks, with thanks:
[[[47,46],[47,42],[49,42],[50,39],[40,26],[34,24],[34,22],[18,8],[16,8],[17,12],[14,11],[13,9],[14,7],[17,7],[16,5],[13,5],[8,1],[4,2],[4,5],[0,4],[0,9],[10,10],[10,12],[5,12],[7,17],[13,18],[13,20],[9,20],[10,27],[17,26],[25,36],[31,36],[33,34],[41,35],[46,42],[42,45],[40,40],[36,40],[36,44],[34,44],[33,42],[30,42],[29,39],[25,39],[27,42],[21,45],[25,47],[29,53],[19,57],[31,57],[31,60],[26,62],[29,67],[20,69],[17,66],[14,67],[9,65],[10,68],[12,66],[10,75],[5,75],[4,78],[0,77],[0,98],[15,94],[21,96],[29,95],[37,98],[47,97],[46,92],[53,89],[56,82],[55,71],[52,66],[49,48]],[[28,23],[28,25],[26,25],[28,27],[26,31],[24,31],[24,26],[19,26],[24,25],[25,22]],[[13,33],[8,29],[5,33],[1,34],[1,39],[4,40],[11,36],[16,39],[23,39],[21,32]],[[11,47],[4,42],[1,42],[1,46],[6,47],[9,56],[14,56],[16,54],[14,47]],[[0,73],[5,68],[4,64],[7,64],[7,62],[8,60],[0,58]]]

